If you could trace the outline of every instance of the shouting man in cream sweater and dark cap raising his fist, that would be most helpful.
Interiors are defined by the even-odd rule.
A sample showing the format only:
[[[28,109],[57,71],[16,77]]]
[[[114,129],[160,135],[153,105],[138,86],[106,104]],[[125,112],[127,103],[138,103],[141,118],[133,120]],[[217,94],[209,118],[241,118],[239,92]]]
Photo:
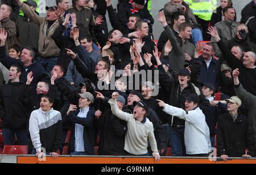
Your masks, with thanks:
[[[134,102],[133,114],[125,113],[118,109],[117,97],[118,93],[112,94],[109,100],[112,113],[118,118],[127,122],[127,132],[125,136],[125,151],[127,155],[147,156],[147,140],[150,142],[152,156],[155,161],[160,160],[158,148],[154,135],[153,124],[146,118],[148,114],[148,106],[143,101]]]

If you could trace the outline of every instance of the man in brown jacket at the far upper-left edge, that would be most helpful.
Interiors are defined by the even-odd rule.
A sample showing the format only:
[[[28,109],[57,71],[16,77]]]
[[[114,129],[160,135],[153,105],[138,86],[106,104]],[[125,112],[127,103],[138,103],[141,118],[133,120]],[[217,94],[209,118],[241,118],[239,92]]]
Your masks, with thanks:
[[[16,26],[15,23],[10,19],[12,8],[9,5],[3,4],[0,7],[0,28],[5,28],[7,32],[6,39],[6,52],[9,54],[9,45],[13,45],[18,41],[16,37]]]

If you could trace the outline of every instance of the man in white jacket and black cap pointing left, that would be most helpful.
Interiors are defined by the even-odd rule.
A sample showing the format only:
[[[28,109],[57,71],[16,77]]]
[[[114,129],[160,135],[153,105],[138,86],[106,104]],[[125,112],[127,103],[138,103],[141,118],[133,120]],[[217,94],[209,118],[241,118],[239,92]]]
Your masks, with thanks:
[[[187,156],[207,157],[211,147],[210,132],[205,115],[198,107],[199,97],[197,94],[189,94],[185,100],[185,110],[157,101],[165,113],[185,120],[184,139]]]

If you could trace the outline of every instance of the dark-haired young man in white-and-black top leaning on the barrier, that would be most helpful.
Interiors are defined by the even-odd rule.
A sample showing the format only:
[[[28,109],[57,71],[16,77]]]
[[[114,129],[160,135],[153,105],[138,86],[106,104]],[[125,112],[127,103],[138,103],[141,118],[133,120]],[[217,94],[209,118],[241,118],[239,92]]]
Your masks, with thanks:
[[[43,158],[46,149],[47,155],[52,155],[53,159],[58,157],[57,149],[61,143],[62,123],[59,111],[53,110],[53,99],[48,95],[43,95],[40,101],[40,108],[32,111],[30,115],[29,130],[34,149],[32,154]]]

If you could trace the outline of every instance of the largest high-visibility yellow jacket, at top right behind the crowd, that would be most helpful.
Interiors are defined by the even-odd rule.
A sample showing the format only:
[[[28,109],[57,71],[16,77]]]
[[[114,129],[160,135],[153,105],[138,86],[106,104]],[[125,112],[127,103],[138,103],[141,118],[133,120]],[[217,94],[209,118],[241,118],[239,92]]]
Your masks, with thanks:
[[[209,21],[213,11],[217,9],[217,0],[184,0],[193,14],[200,19]]]

